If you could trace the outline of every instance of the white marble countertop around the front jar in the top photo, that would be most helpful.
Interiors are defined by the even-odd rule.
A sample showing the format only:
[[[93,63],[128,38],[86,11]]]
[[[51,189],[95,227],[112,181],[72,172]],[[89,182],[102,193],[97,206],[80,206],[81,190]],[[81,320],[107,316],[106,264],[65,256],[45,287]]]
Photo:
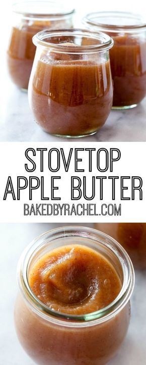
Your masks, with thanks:
[[[66,141],[45,133],[34,121],[28,95],[11,82],[3,60],[0,91],[0,141]],[[3,71],[3,72],[2,72]],[[112,110],[105,125],[94,135],[70,138],[78,141],[146,141],[146,98],[134,109]]]

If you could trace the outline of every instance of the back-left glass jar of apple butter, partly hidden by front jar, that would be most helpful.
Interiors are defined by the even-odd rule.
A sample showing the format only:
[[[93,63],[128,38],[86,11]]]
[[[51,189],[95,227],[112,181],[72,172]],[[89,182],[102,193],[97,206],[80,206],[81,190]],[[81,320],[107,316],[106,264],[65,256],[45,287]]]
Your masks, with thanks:
[[[27,90],[36,47],[32,37],[43,29],[71,28],[74,10],[57,1],[25,1],[13,6],[13,27],[7,52],[12,81]]]

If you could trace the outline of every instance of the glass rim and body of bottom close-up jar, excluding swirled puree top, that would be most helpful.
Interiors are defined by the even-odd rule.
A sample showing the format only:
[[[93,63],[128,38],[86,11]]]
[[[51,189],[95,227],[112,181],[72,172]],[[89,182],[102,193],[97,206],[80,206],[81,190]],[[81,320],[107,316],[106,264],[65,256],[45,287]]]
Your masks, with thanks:
[[[102,254],[114,267],[122,287],[106,308],[85,315],[55,312],[33,294],[29,272],[48,251],[84,245]],[[125,250],[107,235],[85,227],[58,228],[36,238],[24,251],[18,267],[20,293],[15,324],[26,352],[41,365],[103,365],[118,350],[129,325],[129,299],[134,272]]]

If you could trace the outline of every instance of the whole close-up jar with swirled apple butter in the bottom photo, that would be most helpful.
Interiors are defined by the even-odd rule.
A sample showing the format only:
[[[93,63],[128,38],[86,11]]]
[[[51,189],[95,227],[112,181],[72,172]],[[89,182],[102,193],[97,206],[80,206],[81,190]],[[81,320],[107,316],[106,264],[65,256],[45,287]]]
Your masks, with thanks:
[[[104,307],[103,298],[109,300],[109,293],[113,295],[117,280],[118,294]],[[85,227],[46,232],[23,253],[18,282],[16,330],[22,346],[36,363],[104,365],[117,352],[129,325],[134,272],[127,253],[115,240]],[[50,298],[46,301],[50,293],[57,310]],[[74,301],[70,302],[70,298]],[[91,312],[95,298],[98,310]]]

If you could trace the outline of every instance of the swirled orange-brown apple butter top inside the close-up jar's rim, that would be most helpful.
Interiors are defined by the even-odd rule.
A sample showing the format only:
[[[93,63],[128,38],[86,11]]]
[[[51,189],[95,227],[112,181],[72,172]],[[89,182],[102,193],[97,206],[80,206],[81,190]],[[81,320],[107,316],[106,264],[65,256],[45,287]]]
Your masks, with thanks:
[[[112,264],[82,245],[62,246],[42,256],[30,270],[29,285],[49,308],[73,315],[105,308],[121,289]]]

